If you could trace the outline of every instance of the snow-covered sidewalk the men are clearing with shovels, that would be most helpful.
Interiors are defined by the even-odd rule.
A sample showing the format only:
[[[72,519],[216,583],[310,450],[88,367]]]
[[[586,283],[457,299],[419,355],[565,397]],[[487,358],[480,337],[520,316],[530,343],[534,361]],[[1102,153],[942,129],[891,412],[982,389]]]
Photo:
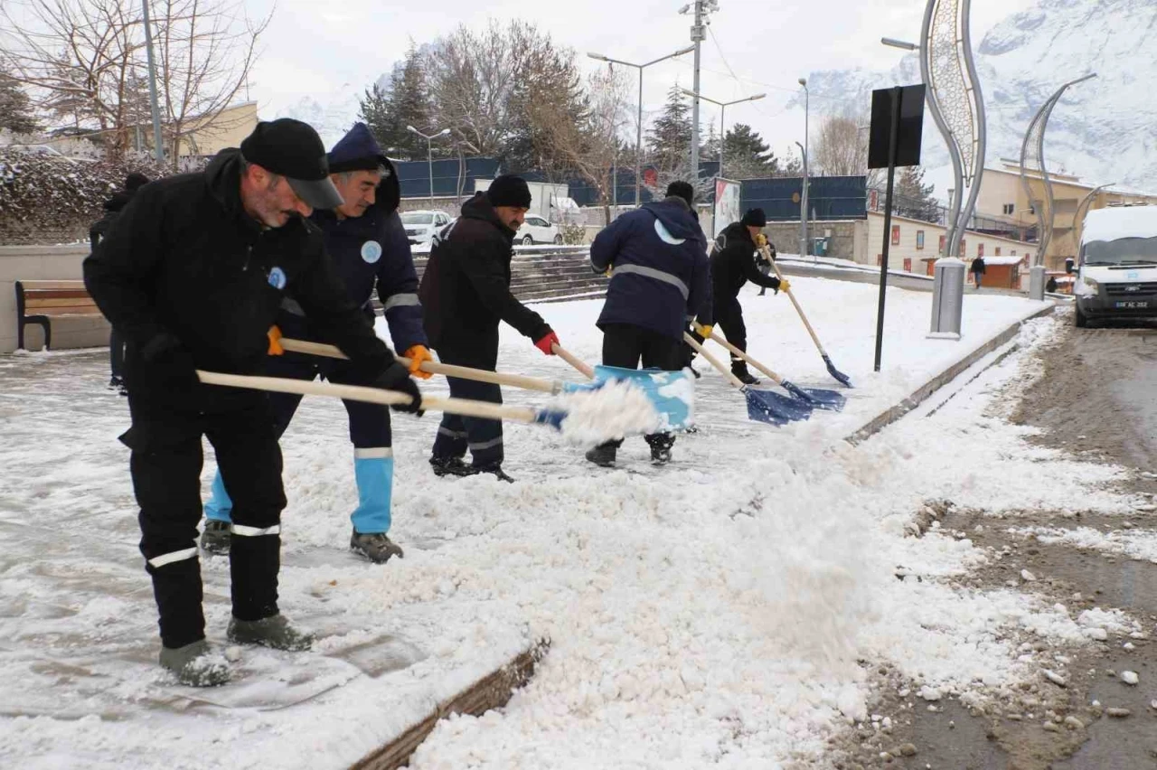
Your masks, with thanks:
[[[821,472],[825,450],[1045,305],[966,297],[965,339],[949,342],[923,335],[927,294],[891,289],[884,370],[875,373],[875,290],[793,283],[856,385],[843,413],[784,428],[751,422],[743,398],[698,362],[700,430],[679,438],[671,467],[653,468],[643,442],[629,439],[620,469],[603,472],[555,434],[509,425],[504,467],[515,484],[435,479],[426,458],[437,416],[395,416],[391,536],[406,558],[386,565],[345,550],[355,504],[345,413],[307,399],[282,442],[290,502],[281,597],[285,613],[322,638],[309,653],[242,650],[243,675],[212,690],[177,687],[155,665],[127,450],[116,440],[127,409],[103,390],[104,351],[0,358],[0,765],[344,768],[540,638],[551,652],[511,703],[522,721],[507,723],[525,736],[526,767],[616,753],[624,763],[649,755],[694,765],[688,757],[736,709],[751,731],[737,756],[820,750],[824,731],[858,713],[863,683],[767,647],[754,619],[768,604],[751,579],[782,546],[747,523],[764,506],[809,509],[811,523],[791,535],[811,554],[797,568],[813,586],[838,585],[825,577],[826,560],[845,557],[824,545],[824,511],[846,506],[847,491],[805,479]],[[743,303],[752,355],[799,385],[840,390],[786,297],[749,290]],[[600,306],[538,308],[563,345],[594,362]],[[578,378],[507,328],[500,361],[508,371]],[[444,392],[436,380],[423,387]],[[543,402],[510,390],[506,399]],[[213,471],[209,452],[205,493]],[[202,556],[201,565],[208,632],[220,642],[228,564]],[[789,696],[795,705],[782,701]],[[423,747],[414,767],[469,763],[454,725],[479,724],[442,723],[442,749]]]

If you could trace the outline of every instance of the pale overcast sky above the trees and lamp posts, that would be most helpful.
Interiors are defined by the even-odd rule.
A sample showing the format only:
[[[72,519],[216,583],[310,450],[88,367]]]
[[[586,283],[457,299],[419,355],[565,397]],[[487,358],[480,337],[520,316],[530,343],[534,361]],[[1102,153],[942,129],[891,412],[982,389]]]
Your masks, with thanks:
[[[274,117],[304,96],[336,104],[386,72],[411,39],[427,43],[458,23],[480,27],[492,17],[533,22],[580,54],[596,51],[647,61],[690,44],[691,17],[678,13],[683,2],[277,0],[251,96],[259,102],[261,117]],[[245,3],[255,15],[268,13],[271,5],[272,0]],[[923,0],[718,0],[718,5],[702,46],[701,92],[721,102],[766,92],[762,101],[730,108],[727,120],[753,125],[776,154],[803,135],[803,110],[784,106],[798,91],[798,77],[820,69],[890,68],[904,53],[880,45],[879,38],[918,40],[924,7]],[[1031,5],[1032,0],[973,0],[974,43],[996,22]],[[692,61],[693,55],[686,54],[646,71],[644,116],[659,109],[676,81],[691,87]],[[583,57],[583,66],[598,64]],[[831,106],[812,101],[813,131]],[[702,119],[718,126],[717,108],[703,103],[703,110]]]

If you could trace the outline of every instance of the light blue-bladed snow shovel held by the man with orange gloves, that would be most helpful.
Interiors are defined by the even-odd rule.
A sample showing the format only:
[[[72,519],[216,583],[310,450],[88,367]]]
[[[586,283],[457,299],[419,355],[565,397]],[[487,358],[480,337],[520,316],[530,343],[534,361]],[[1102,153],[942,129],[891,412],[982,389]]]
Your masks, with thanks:
[[[327,358],[346,358],[336,346],[324,342],[309,342],[307,340],[280,339],[281,348],[293,353],[304,353]],[[558,346],[555,346],[558,347]],[[560,348],[561,349],[561,348]],[[569,354],[568,354],[569,355]],[[574,356],[572,356],[574,358]],[[404,367],[410,365],[410,358],[398,356],[398,363]],[[569,361],[569,360],[568,360]],[[559,393],[581,393],[584,391],[596,391],[607,383],[627,380],[641,390],[650,400],[651,406],[658,412],[665,425],[664,430],[678,430],[687,428],[692,421],[694,386],[685,372],[681,371],[656,371],[634,369],[619,369],[617,367],[596,367],[591,369],[581,360],[574,358],[572,362],[577,369],[582,365],[584,373],[594,379],[592,383],[566,383],[558,379],[539,379],[538,377],[525,377],[523,375],[504,375],[502,372],[489,371],[488,369],[471,369],[470,367],[456,367],[436,361],[422,362],[421,370],[432,375],[445,375],[447,377],[460,377],[462,379],[473,379],[481,383],[493,383],[495,385],[509,385],[528,391],[539,391],[558,395]],[[680,384],[683,384],[680,386]]]

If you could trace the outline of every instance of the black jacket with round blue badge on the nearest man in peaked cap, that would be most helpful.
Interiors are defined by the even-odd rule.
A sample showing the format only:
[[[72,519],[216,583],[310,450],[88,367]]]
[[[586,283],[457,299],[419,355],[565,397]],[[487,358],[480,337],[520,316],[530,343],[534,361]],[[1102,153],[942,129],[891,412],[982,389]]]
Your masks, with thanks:
[[[159,335],[176,336],[193,364],[255,375],[265,367],[266,333],[293,297],[319,339],[352,360],[367,383],[397,365],[353,302],[305,220],[259,225],[241,202],[241,153],[221,150],[200,173],[141,187],[84,260],[84,286],[126,341],[130,394],[183,401],[140,355]],[[199,388],[207,399],[229,388]]]

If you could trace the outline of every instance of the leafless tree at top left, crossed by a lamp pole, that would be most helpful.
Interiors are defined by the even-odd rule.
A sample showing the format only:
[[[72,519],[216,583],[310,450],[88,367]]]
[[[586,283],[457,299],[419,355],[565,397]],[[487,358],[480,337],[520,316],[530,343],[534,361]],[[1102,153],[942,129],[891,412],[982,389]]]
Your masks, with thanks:
[[[8,6],[0,53],[36,103],[75,131],[94,132],[115,155],[140,124],[147,77],[145,28],[135,0],[29,0],[21,17]],[[157,90],[165,143],[212,123],[244,87],[268,18],[245,20],[239,2],[156,3]],[[177,151],[170,151],[174,163]]]

